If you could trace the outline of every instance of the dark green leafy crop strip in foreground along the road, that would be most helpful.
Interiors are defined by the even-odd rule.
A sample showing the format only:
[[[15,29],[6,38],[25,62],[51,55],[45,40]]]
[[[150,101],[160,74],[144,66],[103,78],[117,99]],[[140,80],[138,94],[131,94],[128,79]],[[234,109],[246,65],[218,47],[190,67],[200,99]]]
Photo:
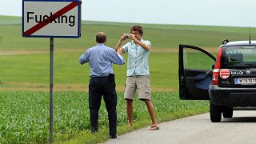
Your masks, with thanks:
[[[150,126],[146,105],[134,101],[134,128],[127,126],[126,102],[118,93],[118,134]],[[165,122],[208,110],[206,101],[180,101],[178,93],[154,93],[152,102],[158,122]],[[0,143],[46,143],[49,138],[49,94],[30,91],[0,92]],[[54,142],[97,143],[108,139],[104,102],[99,112],[99,132],[90,134],[87,93],[54,94]]]

